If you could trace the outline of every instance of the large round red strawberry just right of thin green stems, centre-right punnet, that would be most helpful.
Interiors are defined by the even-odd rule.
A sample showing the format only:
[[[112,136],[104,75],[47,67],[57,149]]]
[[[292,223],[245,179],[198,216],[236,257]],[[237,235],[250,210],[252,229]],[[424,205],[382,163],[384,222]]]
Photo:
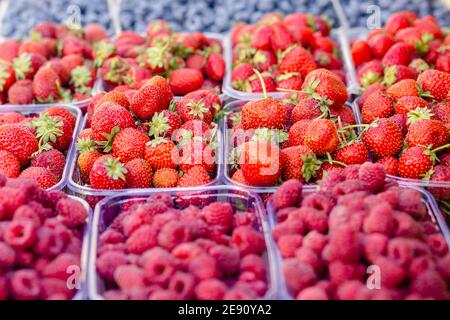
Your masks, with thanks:
[[[394,156],[403,145],[400,127],[391,119],[380,119],[363,134],[363,142],[376,157]]]

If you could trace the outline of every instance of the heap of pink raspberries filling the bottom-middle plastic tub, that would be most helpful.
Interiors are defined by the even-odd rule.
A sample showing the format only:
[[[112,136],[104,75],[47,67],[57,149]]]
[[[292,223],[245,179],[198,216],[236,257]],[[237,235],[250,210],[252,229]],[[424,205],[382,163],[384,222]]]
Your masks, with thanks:
[[[235,300],[266,293],[266,246],[254,212],[227,202],[177,209],[166,193],[121,210],[99,239],[105,299]]]

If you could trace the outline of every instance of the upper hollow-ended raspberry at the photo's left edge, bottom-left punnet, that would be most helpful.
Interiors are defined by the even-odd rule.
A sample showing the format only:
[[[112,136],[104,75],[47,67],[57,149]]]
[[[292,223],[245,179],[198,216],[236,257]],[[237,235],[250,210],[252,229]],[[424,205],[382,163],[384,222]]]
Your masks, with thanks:
[[[3,238],[6,243],[15,249],[29,248],[36,239],[36,225],[28,219],[11,221]]]

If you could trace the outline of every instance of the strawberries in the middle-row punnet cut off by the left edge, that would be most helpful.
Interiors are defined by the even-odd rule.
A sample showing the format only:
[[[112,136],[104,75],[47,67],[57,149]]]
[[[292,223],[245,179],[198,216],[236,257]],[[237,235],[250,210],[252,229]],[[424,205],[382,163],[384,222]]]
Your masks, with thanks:
[[[0,113],[0,173],[51,188],[62,178],[75,126],[75,116],[64,107],[28,116]]]

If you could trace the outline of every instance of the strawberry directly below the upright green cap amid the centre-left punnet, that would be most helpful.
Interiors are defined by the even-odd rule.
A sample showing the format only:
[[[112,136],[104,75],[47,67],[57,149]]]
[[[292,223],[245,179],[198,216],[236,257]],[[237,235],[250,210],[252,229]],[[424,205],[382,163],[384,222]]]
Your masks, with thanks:
[[[163,138],[155,138],[145,147],[144,159],[152,169],[177,167],[178,150],[175,144]]]

